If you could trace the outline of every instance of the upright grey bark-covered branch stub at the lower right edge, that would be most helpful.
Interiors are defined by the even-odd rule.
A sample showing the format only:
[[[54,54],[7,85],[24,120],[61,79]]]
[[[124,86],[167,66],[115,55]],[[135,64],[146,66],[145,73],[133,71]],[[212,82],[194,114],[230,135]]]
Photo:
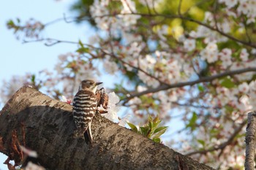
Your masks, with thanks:
[[[256,112],[248,113],[248,123],[246,127],[246,151],[245,151],[245,170],[255,169],[255,147],[256,147]]]

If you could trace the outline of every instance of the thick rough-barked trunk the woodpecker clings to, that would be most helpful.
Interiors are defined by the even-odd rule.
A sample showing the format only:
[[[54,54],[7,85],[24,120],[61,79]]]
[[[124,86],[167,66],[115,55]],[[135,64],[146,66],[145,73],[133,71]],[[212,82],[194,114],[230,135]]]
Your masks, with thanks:
[[[0,112],[0,152],[20,163],[23,145],[47,169],[211,169],[100,115],[93,146],[74,139],[74,130],[72,106],[23,87]]]

